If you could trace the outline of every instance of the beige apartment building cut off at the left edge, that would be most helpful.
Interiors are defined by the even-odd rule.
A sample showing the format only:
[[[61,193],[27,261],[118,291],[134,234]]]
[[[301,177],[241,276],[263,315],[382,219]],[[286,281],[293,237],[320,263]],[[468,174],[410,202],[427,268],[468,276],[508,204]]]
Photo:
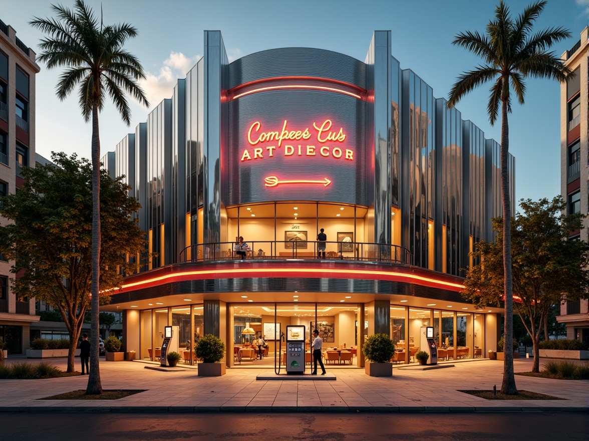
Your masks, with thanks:
[[[0,20],[0,195],[22,186],[22,166],[35,166],[35,52]],[[6,222],[0,219],[0,223]],[[38,321],[34,298],[19,301],[9,284],[11,262],[0,255],[0,340],[8,354],[29,347],[29,327]]]

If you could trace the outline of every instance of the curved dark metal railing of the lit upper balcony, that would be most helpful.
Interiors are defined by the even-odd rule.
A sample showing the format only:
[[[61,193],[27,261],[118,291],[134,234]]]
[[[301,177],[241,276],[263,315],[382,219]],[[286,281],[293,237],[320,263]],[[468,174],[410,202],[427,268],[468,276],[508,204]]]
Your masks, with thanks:
[[[180,262],[211,262],[232,259],[300,261],[317,259],[316,241],[251,241],[245,257],[237,255],[235,242],[201,243],[187,246],[180,252]],[[279,251],[279,249],[284,251]],[[325,260],[360,262],[413,263],[408,249],[385,243],[326,242]]]

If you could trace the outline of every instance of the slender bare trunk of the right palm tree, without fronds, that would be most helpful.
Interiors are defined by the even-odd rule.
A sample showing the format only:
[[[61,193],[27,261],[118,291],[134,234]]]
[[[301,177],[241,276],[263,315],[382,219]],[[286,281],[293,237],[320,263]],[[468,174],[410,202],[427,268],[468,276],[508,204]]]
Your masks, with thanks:
[[[501,198],[503,202],[503,269],[505,274],[505,327],[503,383],[501,393],[517,394],[514,376],[514,312],[513,279],[511,276],[511,201],[509,200],[509,125],[507,121],[507,97],[501,98]]]

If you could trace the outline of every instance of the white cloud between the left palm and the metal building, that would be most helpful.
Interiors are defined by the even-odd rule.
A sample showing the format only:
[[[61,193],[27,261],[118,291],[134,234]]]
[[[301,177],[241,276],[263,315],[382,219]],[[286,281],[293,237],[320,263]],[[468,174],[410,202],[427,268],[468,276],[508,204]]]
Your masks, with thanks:
[[[145,72],[145,80],[139,84],[145,91],[145,96],[154,108],[164,98],[170,98],[178,78],[186,77],[186,74],[196,64],[200,55],[188,58],[182,52],[170,52],[170,56],[164,60],[158,73]]]

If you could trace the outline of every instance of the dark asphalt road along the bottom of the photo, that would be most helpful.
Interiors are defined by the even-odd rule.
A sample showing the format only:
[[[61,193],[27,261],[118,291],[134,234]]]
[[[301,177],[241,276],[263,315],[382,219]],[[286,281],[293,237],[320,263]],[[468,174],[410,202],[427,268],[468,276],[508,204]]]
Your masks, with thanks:
[[[0,440],[583,440],[589,413],[0,413]]]

